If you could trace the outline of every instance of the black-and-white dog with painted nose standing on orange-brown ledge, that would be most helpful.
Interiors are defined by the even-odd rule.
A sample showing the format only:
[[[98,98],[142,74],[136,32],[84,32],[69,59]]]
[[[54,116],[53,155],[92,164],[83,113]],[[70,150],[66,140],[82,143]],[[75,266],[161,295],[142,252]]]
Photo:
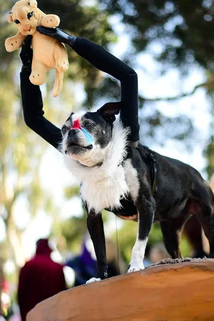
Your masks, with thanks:
[[[139,144],[128,146],[129,129],[116,115],[120,102],[104,104],[96,112],[71,113],[62,126],[64,162],[79,179],[93,242],[96,276],[108,277],[102,209],[138,222],[128,272],[144,269],[147,239],[159,221],[165,247],[173,259],[182,258],[179,238],[190,215],[200,222],[214,257],[214,196],[208,183],[191,166],[162,156]]]

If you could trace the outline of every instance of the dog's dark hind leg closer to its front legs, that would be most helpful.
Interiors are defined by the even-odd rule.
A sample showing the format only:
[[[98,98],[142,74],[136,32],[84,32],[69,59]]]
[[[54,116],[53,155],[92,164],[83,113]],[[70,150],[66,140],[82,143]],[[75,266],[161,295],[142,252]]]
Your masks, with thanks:
[[[176,219],[160,222],[164,245],[172,259],[182,259],[180,251],[180,236],[186,219],[187,216],[182,216]]]

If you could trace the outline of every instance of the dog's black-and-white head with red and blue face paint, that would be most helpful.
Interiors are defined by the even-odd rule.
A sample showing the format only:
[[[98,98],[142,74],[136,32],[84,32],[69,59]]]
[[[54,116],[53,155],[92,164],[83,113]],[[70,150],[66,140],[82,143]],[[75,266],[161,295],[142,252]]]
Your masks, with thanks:
[[[62,126],[62,152],[86,166],[102,162],[119,112],[120,102],[109,102],[96,112],[71,113]]]

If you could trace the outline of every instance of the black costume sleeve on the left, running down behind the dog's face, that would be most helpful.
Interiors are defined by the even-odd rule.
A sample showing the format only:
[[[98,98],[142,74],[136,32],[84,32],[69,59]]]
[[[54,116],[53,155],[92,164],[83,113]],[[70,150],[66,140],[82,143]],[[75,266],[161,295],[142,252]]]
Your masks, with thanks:
[[[29,79],[30,72],[21,71],[21,94],[25,123],[53,147],[59,147],[62,141],[61,130],[50,123],[43,115],[42,94],[39,86]]]

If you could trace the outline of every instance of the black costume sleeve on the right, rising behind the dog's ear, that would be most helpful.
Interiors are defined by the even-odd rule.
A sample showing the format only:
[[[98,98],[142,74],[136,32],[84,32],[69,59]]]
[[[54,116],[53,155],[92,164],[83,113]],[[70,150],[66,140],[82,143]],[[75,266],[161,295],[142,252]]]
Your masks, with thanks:
[[[138,123],[138,76],[137,73],[103,47],[88,39],[78,38],[71,46],[81,57],[97,69],[104,71],[121,82],[121,120],[124,126],[131,128],[130,141],[139,140]]]

